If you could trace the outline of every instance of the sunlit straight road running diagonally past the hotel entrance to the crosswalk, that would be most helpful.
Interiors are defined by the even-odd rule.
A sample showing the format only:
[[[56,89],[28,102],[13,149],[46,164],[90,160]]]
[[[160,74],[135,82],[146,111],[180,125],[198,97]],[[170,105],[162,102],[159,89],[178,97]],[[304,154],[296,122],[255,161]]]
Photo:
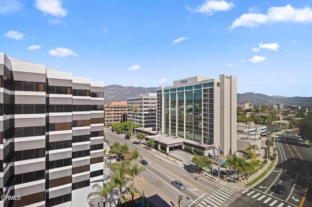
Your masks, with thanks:
[[[146,171],[142,173],[142,176],[161,190],[176,206],[178,206],[179,194],[183,195],[181,207],[195,207],[197,205],[198,207],[206,207],[208,204],[211,207],[228,206],[230,197],[233,197],[235,193],[240,195],[235,190],[220,186],[216,181],[199,176],[195,173],[194,165],[185,164],[181,166],[171,160],[164,159],[155,151],[144,149],[144,145],[141,146],[138,139],[124,139],[122,135],[114,134],[108,129],[105,130],[105,137],[109,143],[118,141],[120,144],[127,143],[131,150],[137,148],[143,159],[149,163],[145,166]],[[183,183],[186,190],[179,190],[173,186],[171,184],[173,180],[179,180]]]

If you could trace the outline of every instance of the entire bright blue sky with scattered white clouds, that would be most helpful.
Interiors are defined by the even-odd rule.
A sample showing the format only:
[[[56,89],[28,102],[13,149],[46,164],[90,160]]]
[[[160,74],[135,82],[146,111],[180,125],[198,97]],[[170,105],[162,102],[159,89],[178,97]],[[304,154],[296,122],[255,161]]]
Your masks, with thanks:
[[[311,0],[0,0],[0,52],[103,81],[311,97]]]

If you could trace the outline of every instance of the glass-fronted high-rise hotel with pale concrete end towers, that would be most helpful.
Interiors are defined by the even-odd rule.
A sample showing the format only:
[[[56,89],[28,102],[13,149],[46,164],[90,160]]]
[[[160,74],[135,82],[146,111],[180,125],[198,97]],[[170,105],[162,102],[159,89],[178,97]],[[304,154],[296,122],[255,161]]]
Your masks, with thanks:
[[[236,151],[236,77],[192,77],[157,89],[157,131]]]

